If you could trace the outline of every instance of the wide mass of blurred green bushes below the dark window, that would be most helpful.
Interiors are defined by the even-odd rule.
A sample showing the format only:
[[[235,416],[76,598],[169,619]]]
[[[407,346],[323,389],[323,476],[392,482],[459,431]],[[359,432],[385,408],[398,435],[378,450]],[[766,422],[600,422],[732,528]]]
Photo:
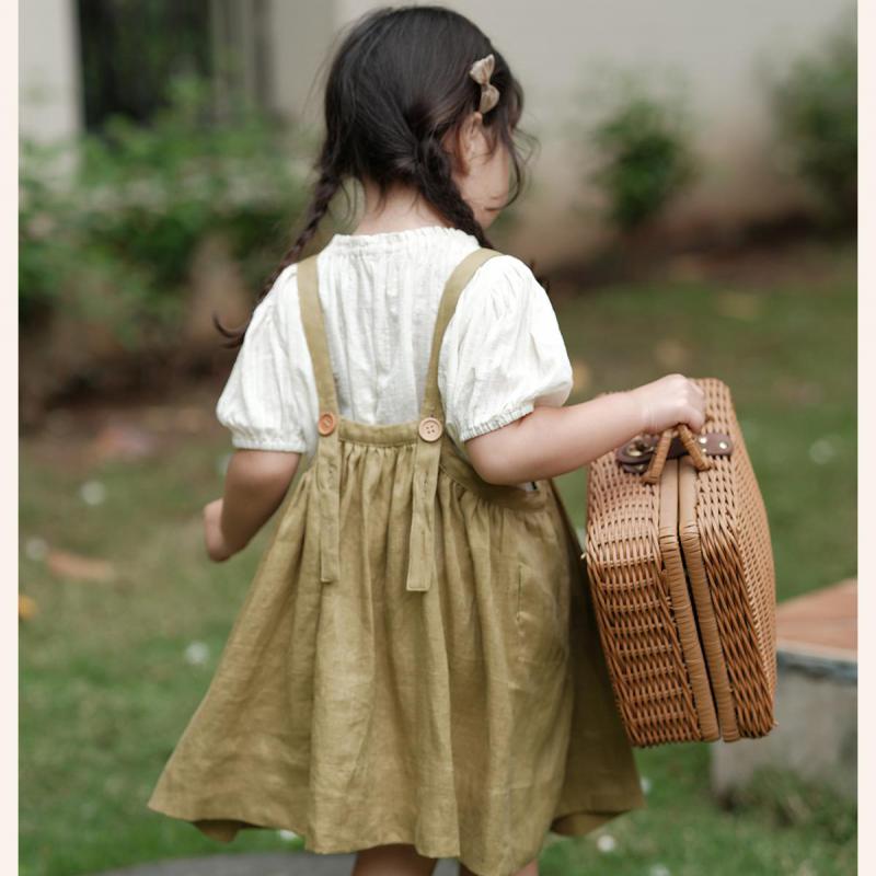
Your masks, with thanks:
[[[47,181],[58,150],[23,142],[23,327],[62,298],[111,321],[126,346],[137,346],[138,335],[142,344],[155,334],[172,341],[193,251],[214,232],[228,239],[254,298],[306,197],[287,134],[245,104],[215,118],[209,85],[185,77],[171,83],[169,105],[148,126],[114,117],[72,143],[76,172],[64,185]],[[89,276],[103,276],[125,306],[110,312],[105,295],[91,301],[88,288],[71,292]]]

